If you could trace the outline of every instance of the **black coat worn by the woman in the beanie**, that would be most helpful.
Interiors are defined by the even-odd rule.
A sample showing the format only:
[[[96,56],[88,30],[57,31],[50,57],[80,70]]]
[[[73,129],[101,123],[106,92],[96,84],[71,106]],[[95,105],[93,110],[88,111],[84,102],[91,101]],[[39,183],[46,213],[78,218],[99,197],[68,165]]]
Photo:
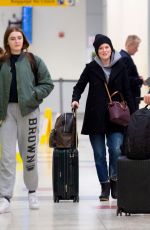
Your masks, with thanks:
[[[85,115],[82,134],[100,134],[106,132],[123,132],[124,127],[109,122],[108,95],[104,86],[105,75],[95,61],[86,65],[80,79],[74,86],[72,101],[79,101],[86,85],[89,83],[89,91],[86,101]],[[112,67],[109,77],[108,88],[110,93],[119,91],[130,108],[131,113],[135,110],[129,88],[128,76],[125,66],[119,60]],[[114,98],[119,100],[120,98]]]

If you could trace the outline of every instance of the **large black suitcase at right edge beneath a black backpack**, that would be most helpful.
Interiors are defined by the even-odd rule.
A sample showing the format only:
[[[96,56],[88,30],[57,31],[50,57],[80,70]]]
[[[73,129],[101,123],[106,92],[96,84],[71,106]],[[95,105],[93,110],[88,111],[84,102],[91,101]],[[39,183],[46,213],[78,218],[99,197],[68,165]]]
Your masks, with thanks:
[[[118,159],[117,215],[150,213],[150,160]]]

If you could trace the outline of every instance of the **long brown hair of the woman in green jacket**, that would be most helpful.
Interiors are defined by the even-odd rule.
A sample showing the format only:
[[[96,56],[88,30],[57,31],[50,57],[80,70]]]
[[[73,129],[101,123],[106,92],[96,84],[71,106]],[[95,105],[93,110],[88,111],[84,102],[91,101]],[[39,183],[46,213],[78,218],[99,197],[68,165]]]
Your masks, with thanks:
[[[8,27],[4,33],[4,40],[3,40],[3,43],[4,43],[4,49],[5,49],[5,56],[10,56],[11,55],[11,51],[10,51],[10,47],[8,45],[8,37],[9,35],[14,32],[14,31],[17,31],[17,32],[20,32],[23,36],[23,46],[22,46],[22,51],[23,50],[26,50],[27,51],[27,48],[29,47],[29,42],[25,36],[25,34],[23,33],[22,29],[19,28],[19,27],[16,27],[16,26],[13,26],[13,27]]]

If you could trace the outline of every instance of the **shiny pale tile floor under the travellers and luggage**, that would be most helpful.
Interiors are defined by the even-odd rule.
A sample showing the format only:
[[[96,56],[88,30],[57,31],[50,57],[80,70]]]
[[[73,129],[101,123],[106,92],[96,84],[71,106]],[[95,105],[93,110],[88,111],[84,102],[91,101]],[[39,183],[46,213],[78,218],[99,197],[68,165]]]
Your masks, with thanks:
[[[78,122],[79,132],[81,121]],[[17,163],[11,212],[0,215],[0,230],[149,230],[150,215],[116,216],[116,201],[100,202],[91,146],[87,136],[79,135],[79,203],[53,202],[52,150],[39,147],[39,210],[29,210],[22,180],[22,165]]]

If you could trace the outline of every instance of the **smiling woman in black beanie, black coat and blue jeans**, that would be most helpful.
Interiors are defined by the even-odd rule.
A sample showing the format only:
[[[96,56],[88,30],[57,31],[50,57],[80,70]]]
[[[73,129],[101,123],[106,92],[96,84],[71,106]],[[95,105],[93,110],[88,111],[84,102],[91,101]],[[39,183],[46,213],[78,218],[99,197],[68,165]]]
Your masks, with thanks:
[[[85,108],[82,134],[89,135],[93,148],[97,175],[101,185],[100,201],[117,198],[117,159],[121,154],[124,127],[109,120],[108,95],[105,83],[112,94],[119,91],[124,96],[131,113],[134,105],[129,88],[127,71],[121,55],[114,50],[109,37],[97,34],[93,43],[96,57],[86,65],[73,88],[72,107],[79,107],[79,100],[87,84],[88,97]],[[120,100],[116,97],[115,100]],[[106,158],[108,147],[109,161]]]

